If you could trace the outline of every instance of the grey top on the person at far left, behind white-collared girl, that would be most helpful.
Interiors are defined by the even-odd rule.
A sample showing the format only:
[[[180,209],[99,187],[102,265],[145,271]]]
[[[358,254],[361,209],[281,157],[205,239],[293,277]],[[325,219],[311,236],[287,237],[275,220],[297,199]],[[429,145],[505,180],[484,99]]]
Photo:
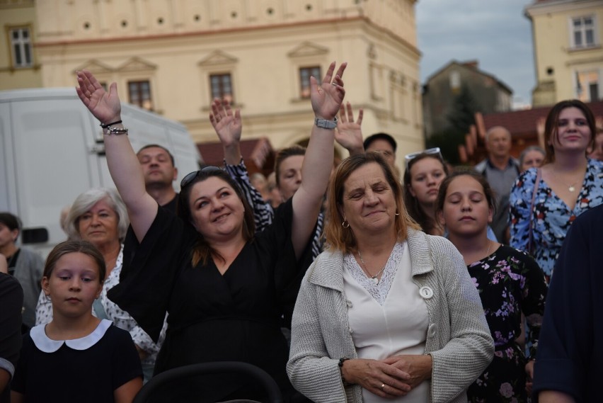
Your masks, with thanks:
[[[38,297],[42,291],[44,259],[31,249],[23,246],[19,249],[13,276],[23,288],[23,324],[31,328],[35,326],[35,307],[38,305]]]

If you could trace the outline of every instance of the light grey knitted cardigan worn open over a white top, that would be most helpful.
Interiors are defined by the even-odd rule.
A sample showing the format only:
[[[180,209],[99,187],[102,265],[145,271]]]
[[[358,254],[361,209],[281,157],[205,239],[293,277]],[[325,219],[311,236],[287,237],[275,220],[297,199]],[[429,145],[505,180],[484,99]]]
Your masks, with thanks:
[[[409,229],[413,282],[433,290],[425,353],[432,356],[430,402],[466,402],[466,388],[486,369],[494,341],[461,254],[442,237]],[[357,358],[343,292],[343,254],[326,251],[302,281],[292,321],[287,374],[314,402],[362,402],[359,385],[344,387],[339,358]]]

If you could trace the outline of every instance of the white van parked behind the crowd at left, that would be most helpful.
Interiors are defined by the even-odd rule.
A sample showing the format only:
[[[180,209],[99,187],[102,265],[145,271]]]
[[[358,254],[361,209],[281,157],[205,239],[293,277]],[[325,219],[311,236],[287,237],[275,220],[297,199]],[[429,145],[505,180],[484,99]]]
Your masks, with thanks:
[[[145,144],[170,150],[175,186],[198,169],[201,156],[184,125],[127,103],[122,120],[135,151]],[[98,186],[115,187],[103,131],[74,88],[0,91],[0,211],[21,218],[21,243],[47,254],[66,238],[62,208]]]

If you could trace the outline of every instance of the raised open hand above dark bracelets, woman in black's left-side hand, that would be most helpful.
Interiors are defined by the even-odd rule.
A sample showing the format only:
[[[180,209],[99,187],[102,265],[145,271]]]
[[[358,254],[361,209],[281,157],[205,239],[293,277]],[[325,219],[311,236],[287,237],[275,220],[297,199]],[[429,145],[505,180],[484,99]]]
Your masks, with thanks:
[[[77,72],[76,92],[86,108],[101,123],[113,123],[120,120],[122,106],[117,96],[117,84],[109,87],[109,92],[103,89],[101,83],[87,70]]]

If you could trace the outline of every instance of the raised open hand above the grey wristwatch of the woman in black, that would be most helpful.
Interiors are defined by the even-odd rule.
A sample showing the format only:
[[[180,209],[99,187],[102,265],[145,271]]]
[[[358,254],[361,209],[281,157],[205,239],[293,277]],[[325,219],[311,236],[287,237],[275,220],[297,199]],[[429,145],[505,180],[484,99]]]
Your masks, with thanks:
[[[345,96],[341,77],[347,66],[348,63],[342,63],[333,78],[335,62],[331,63],[320,85],[315,77],[310,77],[310,101],[316,118],[333,120],[337,115]]]

